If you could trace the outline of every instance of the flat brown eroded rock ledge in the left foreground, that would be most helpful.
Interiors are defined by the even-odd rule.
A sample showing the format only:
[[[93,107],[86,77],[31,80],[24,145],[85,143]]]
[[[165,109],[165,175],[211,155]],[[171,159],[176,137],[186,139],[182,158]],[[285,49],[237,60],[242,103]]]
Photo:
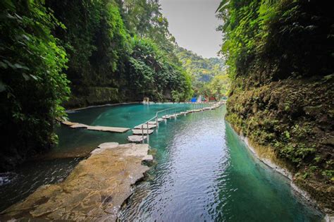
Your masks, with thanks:
[[[10,206],[0,220],[35,218],[70,221],[115,221],[131,185],[149,170],[148,144],[108,142],[94,149],[62,183],[43,185],[23,202]]]

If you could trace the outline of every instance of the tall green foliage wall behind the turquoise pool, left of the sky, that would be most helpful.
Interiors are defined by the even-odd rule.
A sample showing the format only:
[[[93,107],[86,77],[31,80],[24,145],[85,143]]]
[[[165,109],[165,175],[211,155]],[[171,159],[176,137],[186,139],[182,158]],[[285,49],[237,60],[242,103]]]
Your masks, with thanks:
[[[166,19],[157,22],[156,1],[50,0],[48,5],[67,27],[55,34],[70,57],[66,73],[75,98],[90,101],[85,89],[101,86],[118,88],[118,101],[172,99],[171,90],[185,94],[189,82],[171,54]]]

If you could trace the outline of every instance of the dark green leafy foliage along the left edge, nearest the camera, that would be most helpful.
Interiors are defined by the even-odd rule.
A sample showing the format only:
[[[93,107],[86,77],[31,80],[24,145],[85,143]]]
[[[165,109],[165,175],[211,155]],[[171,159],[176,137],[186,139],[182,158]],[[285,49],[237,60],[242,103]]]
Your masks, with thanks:
[[[70,92],[66,52],[51,30],[60,26],[43,1],[1,1],[0,168],[56,142],[55,118]],[[18,156],[20,158],[18,158]],[[14,161],[11,161],[14,159]]]

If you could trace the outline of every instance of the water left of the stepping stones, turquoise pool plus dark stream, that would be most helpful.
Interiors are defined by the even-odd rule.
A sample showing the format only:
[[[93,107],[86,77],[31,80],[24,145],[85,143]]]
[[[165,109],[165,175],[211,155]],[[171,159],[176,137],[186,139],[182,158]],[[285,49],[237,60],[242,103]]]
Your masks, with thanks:
[[[70,111],[70,121],[88,125],[105,125],[133,128],[157,111],[176,108],[160,113],[160,116],[175,111],[197,108],[192,104],[154,104],[154,105],[120,105],[100,106],[78,111]],[[26,161],[16,171],[0,173],[0,211],[24,199],[37,187],[63,181],[78,162],[103,142],[127,143],[126,133],[98,132],[85,129],[71,129],[60,125],[56,129],[59,144],[38,159]]]

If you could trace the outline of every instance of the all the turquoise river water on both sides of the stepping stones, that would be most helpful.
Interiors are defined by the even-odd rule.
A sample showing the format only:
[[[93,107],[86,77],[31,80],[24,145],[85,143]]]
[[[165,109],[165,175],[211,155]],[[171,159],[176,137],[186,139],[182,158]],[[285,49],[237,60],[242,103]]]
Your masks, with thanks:
[[[132,128],[156,111],[190,104],[104,106],[69,113],[70,121]],[[164,114],[164,113],[162,113]],[[156,149],[148,179],[120,212],[121,221],[320,221],[289,181],[254,159],[223,116],[225,107],[163,121],[150,136]],[[127,142],[118,134],[58,129],[60,143],[44,159],[27,162],[0,186],[0,204],[23,199],[39,185],[57,183],[101,142]],[[81,156],[81,157],[78,157]]]

